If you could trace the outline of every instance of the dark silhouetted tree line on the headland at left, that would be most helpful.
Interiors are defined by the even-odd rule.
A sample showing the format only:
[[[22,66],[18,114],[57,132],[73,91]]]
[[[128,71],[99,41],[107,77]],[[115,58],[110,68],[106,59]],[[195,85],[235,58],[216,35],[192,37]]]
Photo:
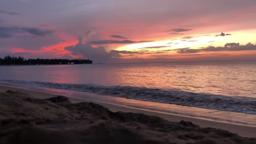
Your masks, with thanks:
[[[24,57],[5,56],[0,65],[42,65],[42,64],[92,64],[90,59],[25,59]]]

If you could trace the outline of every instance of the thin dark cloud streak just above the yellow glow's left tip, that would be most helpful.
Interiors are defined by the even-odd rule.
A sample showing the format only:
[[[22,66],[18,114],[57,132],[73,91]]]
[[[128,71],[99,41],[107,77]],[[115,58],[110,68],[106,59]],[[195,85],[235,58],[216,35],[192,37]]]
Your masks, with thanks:
[[[132,40],[97,40],[90,41],[90,44],[100,45],[100,44],[133,44],[133,43],[146,43],[152,41],[132,41]]]

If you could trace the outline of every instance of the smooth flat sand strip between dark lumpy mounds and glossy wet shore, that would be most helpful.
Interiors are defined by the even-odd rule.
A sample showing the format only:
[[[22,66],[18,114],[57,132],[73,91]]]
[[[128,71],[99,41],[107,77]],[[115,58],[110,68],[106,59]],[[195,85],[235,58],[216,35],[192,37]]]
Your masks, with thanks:
[[[26,90],[26,89],[22,89],[22,88],[15,88],[15,87],[10,87],[10,86],[0,85],[0,92],[6,92],[7,90],[19,91],[19,92],[28,94],[28,96],[32,96],[32,97],[39,98],[39,99],[46,99],[46,98],[51,98],[51,97],[57,96],[57,94],[37,92],[37,91],[33,91],[33,90]],[[199,119],[199,118],[193,118],[193,117],[171,115],[168,113],[160,113],[160,112],[154,112],[154,111],[150,111],[150,110],[147,111],[147,110],[136,109],[136,108],[132,108],[132,107],[121,106],[121,105],[95,102],[93,100],[82,100],[82,99],[76,99],[76,98],[71,98],[71,97],[68,97],[68,98],[72,103],[92,102],[92,103],[107,107],[110,111],[113,111],[113,112],[122,111],[122,112],[143,113],[143,114],[150,115],[150,116],[159,116],[159,117],[164,118],[170,122],[180,122],[182,120],[190,121],[190,122],[200,125],[200,127],[202,127],[202,128],[211,127],[211,128],[217,128],[217,129],[224,129],[224,130],[230,131],[231,133],[236,133],[241,136],[256,137],[256,127],[208,121],[205,119]]]

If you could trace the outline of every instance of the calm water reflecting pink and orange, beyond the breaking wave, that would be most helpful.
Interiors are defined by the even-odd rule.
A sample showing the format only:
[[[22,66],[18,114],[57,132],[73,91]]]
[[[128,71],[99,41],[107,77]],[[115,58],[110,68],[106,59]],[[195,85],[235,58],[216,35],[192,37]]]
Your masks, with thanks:
[[[1,66],[0,80],[95,83],[256,97],[256,62]]]

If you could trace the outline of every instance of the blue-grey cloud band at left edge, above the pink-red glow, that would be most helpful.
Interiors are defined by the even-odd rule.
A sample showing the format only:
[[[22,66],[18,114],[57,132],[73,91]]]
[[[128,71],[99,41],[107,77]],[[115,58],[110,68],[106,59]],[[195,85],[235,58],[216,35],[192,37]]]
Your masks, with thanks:
[[[14,35],[19,35],[22,33],[27,33],[36,36],[44,36],[54,33],[54,31],[44,30],[34,27],[4,27],[0,26],[0,38],[10,38]]]

